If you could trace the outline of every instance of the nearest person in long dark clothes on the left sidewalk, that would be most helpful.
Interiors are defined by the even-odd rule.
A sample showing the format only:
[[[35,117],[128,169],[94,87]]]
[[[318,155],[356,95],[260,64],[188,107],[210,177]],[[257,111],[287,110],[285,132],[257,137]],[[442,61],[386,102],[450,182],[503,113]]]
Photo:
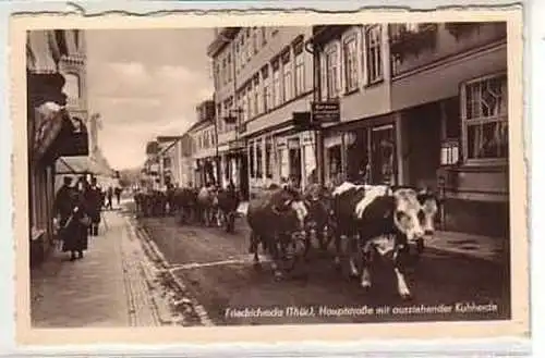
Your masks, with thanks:
[[[74,261],[83,258],[83,251],[87,249],[90,218],[84,197],[86,181],[80,180],[76,188],[70,187],[71,182],[65,180],[64,186],[57,193],[55,207],[60,215],[62,251],[70,251],[70,260]]]

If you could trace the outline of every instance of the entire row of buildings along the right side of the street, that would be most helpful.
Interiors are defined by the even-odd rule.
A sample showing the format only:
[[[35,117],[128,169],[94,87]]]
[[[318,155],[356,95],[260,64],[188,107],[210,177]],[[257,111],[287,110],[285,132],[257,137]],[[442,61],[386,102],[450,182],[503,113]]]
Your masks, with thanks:
[[[506,27],[216,28],[214,99],[184,135],[158,138],[146,172],[233,181],[247,198],[288,178],[428,186],[444,230],[507,236]]]

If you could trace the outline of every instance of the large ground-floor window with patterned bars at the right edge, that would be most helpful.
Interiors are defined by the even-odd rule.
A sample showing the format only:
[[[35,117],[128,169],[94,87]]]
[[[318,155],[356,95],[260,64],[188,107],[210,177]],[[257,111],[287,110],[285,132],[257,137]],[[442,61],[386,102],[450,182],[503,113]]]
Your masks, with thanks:
[[[494,75],[462,85],[464,158],[471,162],[508,156],[507,75]]]

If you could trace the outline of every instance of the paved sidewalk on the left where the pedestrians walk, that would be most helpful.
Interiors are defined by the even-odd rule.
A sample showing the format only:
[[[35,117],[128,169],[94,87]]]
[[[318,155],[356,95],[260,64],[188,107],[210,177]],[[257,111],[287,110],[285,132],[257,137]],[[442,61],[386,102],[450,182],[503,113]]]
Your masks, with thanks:
[[[106,211],[104,218],[108,227],[100,223],[83,259],[69,261],[69,254],[56,250],[32,271],[34,326],[158,325],[138,239],[119,211]]]

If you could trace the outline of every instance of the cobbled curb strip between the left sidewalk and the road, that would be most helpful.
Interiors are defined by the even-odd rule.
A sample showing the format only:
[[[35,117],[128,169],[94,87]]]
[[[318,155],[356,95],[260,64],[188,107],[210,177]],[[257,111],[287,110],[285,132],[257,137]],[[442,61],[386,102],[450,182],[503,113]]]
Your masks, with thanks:
[[[150,238],[146,229],[143,227],[136,219],[131,218],[130,220],[134,224],[135,236],[140,238],[144,252],[152,261],[152,267],[154,267],[154,272],[149,272],[148,277],[156,287],[162,291],[160,294],[161,299],[159,300],[168,300],[170,304],[169,308],[172,311],[182,311],[179,314],[171,313],[170,316],[172,316],[172,319],[170,320],[162,319],[161,321],[164,321],[165,324],[174,325],[215,325],[205,308],[195,299],[191,298],[190,291],[185,284],[169,270],[170,264],[157,244]],[[157,296],[157,289],[155,289],[155,292]],[[168,309],[164,307],[159,310],[164,311]]]

